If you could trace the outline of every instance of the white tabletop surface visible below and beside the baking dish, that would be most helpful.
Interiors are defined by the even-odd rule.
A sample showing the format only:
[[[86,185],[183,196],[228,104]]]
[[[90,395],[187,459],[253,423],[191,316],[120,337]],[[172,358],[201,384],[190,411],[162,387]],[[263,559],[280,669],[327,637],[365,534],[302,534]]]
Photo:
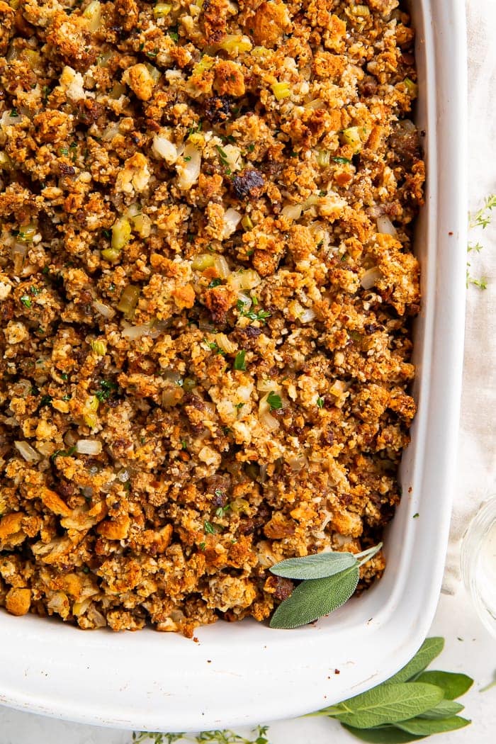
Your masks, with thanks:
[[[429,635],[442,635],[445,650],[436,668],[464,672],[474,686],[463,697],[463,715],[472,720],[467,728],[439,734],[439,744],[494,744],[496,740],[496,687],[480,692],[496,675],[496,639],[474,615],[463,590],[455,596],[442,594]],[[239,733],[244,730],[239,729]],[[294,719],[271,723],[271,744],[352,744],[356,741],[334,721],[325,718]],[[58,721],[30,713],[0,708],[0,744],[132,744],[130,731],[95,728]]]

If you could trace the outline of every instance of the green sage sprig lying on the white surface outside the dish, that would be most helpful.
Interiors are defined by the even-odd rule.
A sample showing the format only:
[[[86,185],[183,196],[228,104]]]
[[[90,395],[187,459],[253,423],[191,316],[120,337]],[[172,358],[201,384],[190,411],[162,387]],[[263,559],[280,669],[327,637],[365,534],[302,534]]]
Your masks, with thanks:
[[[443,646],[442,638],[428,638],[390,679],[310,715],[335,718],[355,738],[371,744],[404,744],[464,728],[470,721],[458,715],[463,705],[454,698],[474,681],[466,674],[425,671]]]

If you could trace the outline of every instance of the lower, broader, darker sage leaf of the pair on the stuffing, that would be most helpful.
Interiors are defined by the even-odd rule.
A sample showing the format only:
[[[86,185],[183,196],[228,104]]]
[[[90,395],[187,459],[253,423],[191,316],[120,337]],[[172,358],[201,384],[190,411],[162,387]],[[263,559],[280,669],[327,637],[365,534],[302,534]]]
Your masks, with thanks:
[[[326,579],[303,581],[274,612],[271,628],[298,628],[338,609],[352,596],[359,574],[358,565],[352,565]]]

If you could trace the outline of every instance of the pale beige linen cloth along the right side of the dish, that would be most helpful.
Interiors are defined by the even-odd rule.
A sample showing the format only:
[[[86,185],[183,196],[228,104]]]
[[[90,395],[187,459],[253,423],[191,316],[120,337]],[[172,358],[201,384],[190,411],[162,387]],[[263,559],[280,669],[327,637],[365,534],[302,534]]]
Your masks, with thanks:
[[[454,0],[457,1],[457,0]],[[496,193],[496,0],[469,0],[468,206]],[[480,253],[467,260],[487,289],[467,290],[466,345],[454,511],[443,591],[460,586],[460,541],[480,504],[496,494],[496,208],[492,224],[469,231]]]

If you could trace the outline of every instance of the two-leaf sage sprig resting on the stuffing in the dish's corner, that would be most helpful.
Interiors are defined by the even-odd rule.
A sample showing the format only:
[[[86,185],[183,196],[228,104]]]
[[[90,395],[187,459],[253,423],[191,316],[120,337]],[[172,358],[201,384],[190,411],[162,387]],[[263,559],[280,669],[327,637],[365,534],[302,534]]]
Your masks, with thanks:
[[[382,543],[361,553],[319,553],[288,558],[273,565],[271,573],[301,583],[280,603],[271,618],[271,628],[298,628],[334,612],[354,593],[360,566],[382,548]]]

